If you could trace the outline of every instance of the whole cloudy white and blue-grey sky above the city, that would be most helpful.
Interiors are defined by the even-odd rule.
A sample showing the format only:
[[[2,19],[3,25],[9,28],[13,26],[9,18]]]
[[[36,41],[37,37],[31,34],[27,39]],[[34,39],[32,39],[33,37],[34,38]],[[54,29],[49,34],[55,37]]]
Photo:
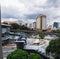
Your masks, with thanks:
[[[2,21],[31,23],[39,14],[47,16],[47,24],[60,22],[60,0],[0,0]]]

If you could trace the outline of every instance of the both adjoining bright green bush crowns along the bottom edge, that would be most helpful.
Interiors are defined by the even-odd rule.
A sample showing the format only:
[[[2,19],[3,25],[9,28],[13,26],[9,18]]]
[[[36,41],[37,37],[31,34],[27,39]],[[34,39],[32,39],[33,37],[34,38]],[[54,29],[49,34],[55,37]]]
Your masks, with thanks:
[[[30,53],[28,54],[26,51],[17,49],[11,54],[7,56],[7,59],[42,59],[39,54]]]

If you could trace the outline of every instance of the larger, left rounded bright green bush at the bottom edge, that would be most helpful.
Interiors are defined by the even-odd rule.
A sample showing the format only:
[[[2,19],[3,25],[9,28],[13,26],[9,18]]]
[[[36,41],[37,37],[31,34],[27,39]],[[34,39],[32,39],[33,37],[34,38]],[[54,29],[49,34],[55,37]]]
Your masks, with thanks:
[[[7,59],[28,59],[28,53],[26,51],[17,49],[9,54]]]

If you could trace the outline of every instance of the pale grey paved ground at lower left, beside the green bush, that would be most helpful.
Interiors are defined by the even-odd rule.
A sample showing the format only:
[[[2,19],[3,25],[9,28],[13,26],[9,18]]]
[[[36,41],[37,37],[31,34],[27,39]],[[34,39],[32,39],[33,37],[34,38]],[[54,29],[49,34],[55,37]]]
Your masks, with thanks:
[[[16,50],[16,46],[3,47],[3,59],[6,59],[7,55]]]

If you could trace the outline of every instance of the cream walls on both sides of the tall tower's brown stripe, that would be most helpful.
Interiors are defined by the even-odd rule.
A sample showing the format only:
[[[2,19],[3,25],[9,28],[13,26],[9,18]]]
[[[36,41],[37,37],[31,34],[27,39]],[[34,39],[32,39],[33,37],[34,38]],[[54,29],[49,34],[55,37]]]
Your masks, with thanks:
[[[39,16],[37,19],[36,19],[36,29],[41,29],[41,17]],[[42,30],[46,30],[46,17],[45,16],[42,16]]]

